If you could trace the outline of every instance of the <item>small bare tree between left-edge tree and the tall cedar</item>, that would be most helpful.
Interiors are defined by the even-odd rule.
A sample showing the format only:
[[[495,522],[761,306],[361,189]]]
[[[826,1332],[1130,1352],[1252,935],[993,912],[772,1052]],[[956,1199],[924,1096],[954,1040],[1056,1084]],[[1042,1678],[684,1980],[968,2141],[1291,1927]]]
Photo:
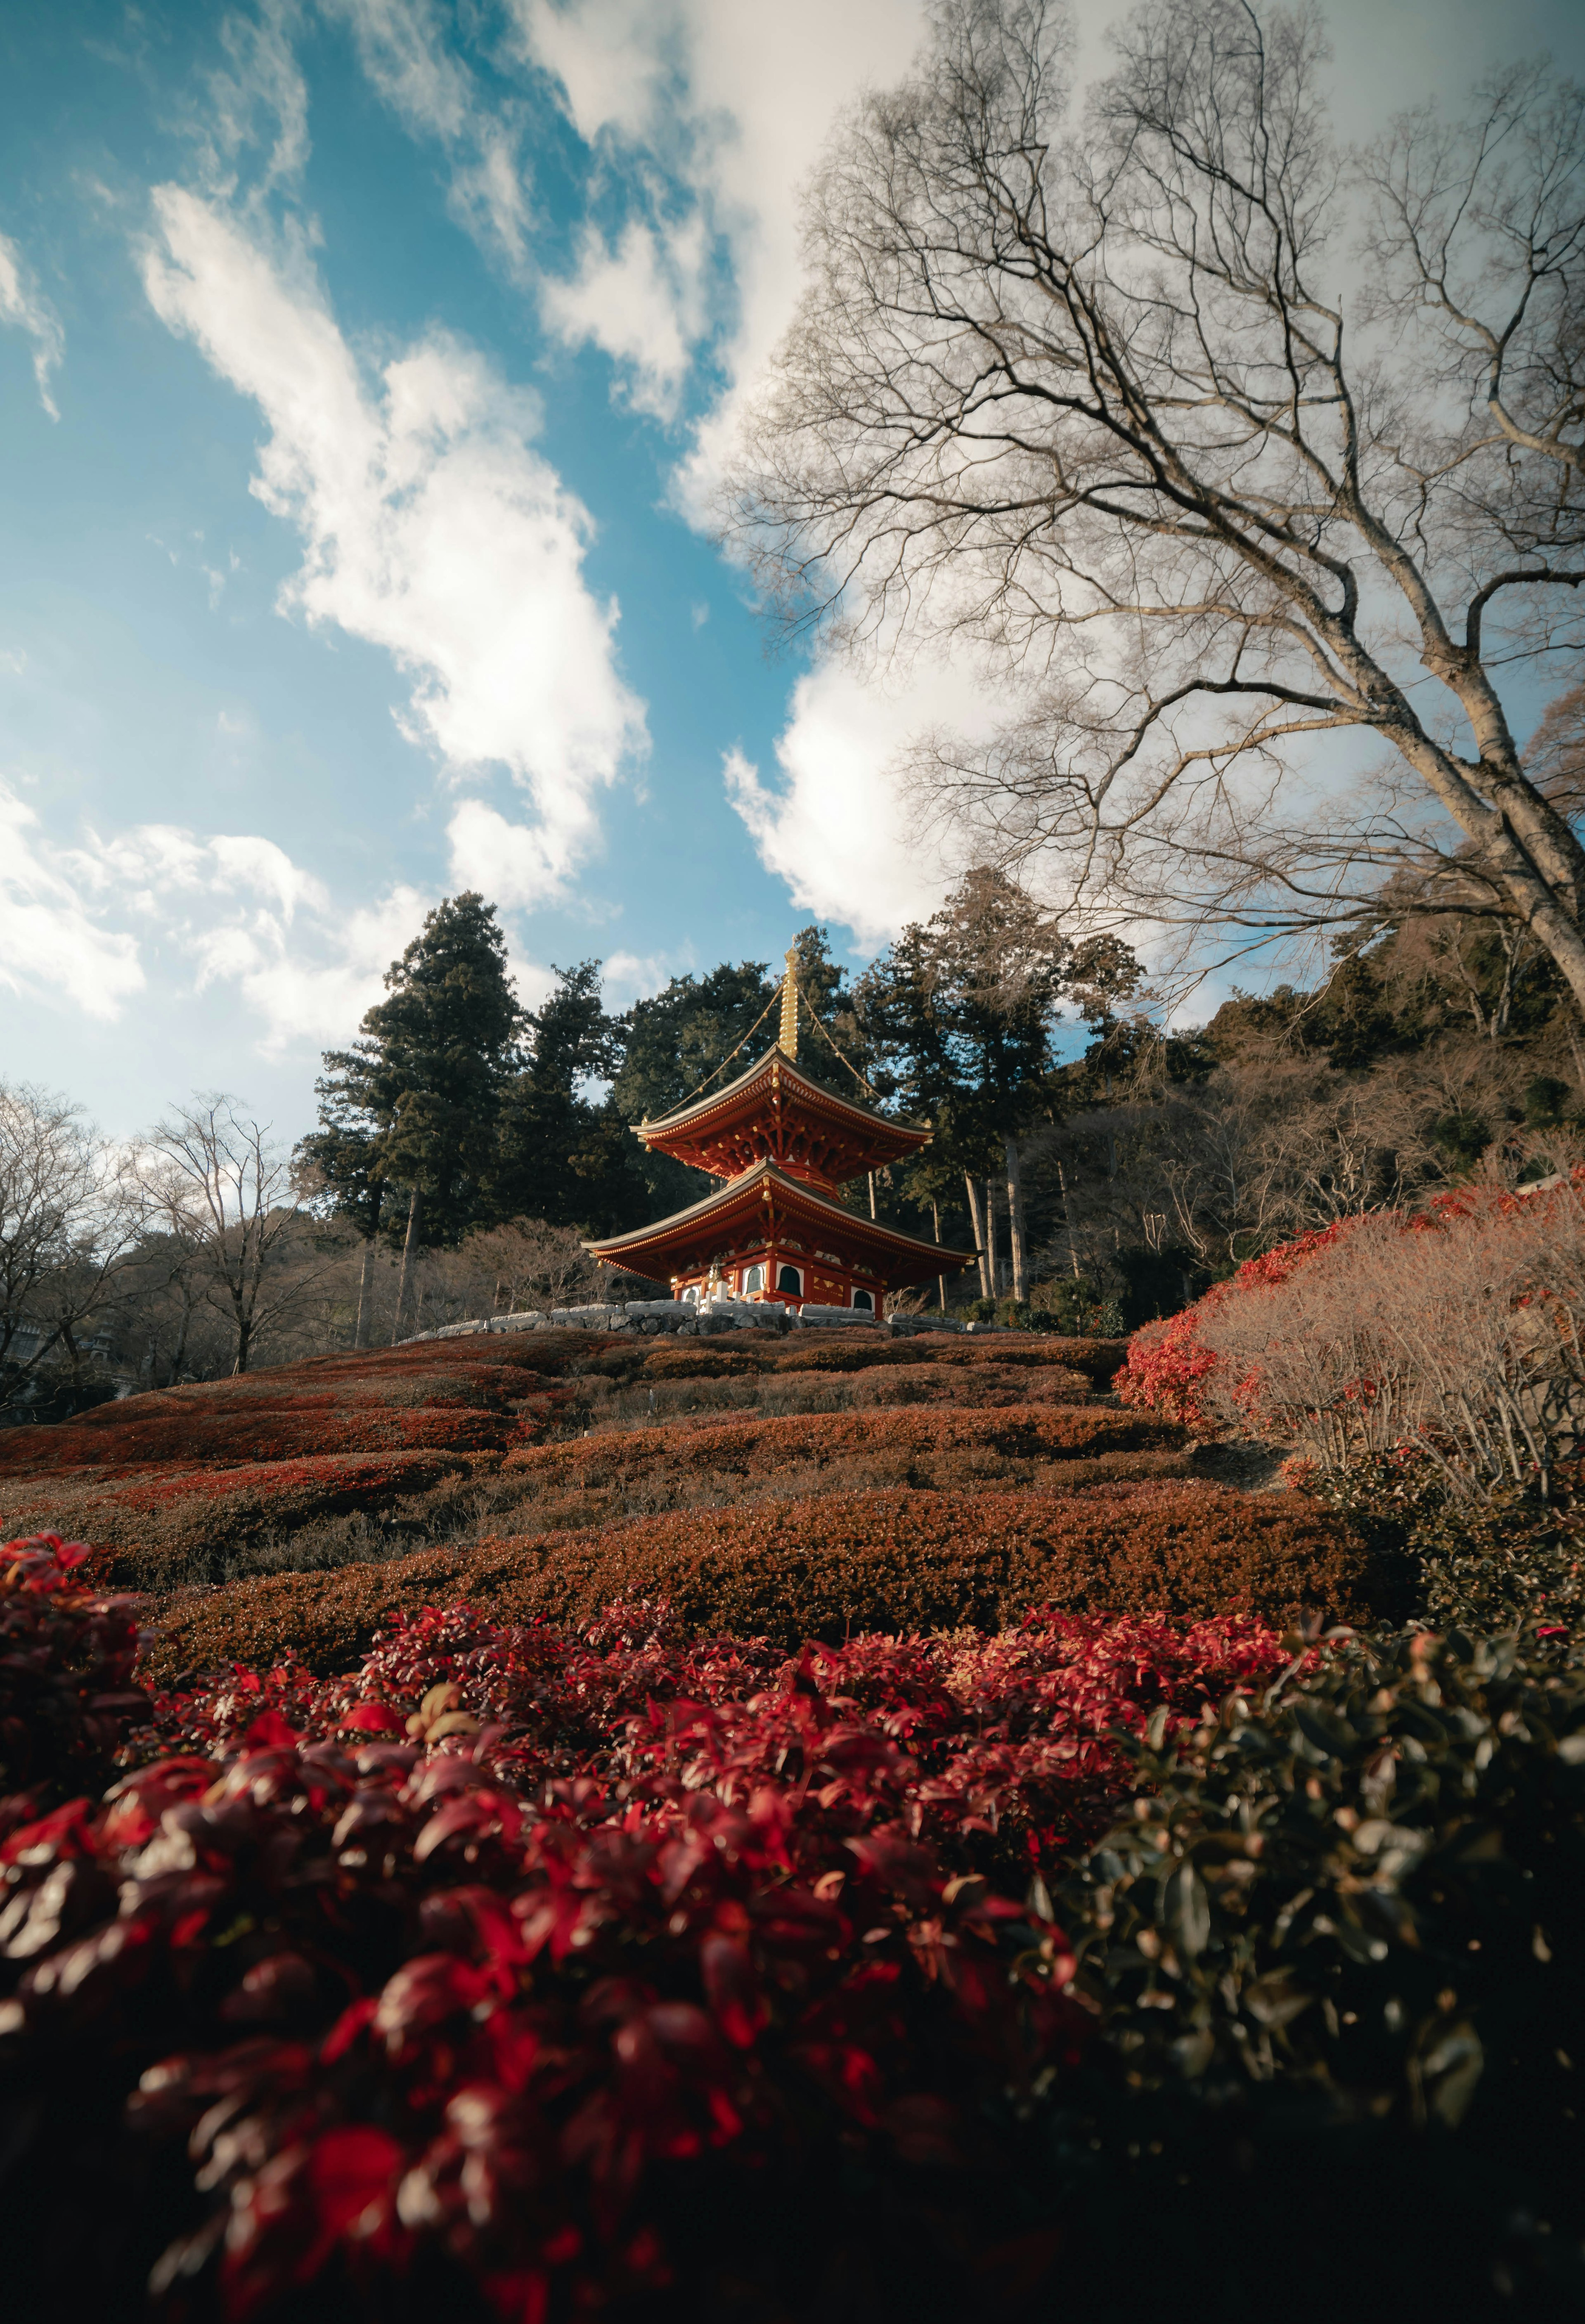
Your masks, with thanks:
[[[137,1178],[149,1208],[191,1255],[191,1278],[228,1320],[232,1373],[246,1371],[260,1334],[304,1297],[302,1213],[291,1160],[267,1127],[242,1120],[237,1099],[198,1097],[142,1143]]]

